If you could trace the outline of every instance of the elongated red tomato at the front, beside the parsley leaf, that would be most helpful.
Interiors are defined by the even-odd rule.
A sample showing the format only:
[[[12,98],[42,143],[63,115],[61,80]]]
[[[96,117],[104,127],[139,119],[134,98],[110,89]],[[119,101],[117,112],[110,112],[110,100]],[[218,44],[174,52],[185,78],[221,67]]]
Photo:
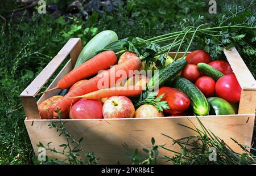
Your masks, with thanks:
[[[171,87],[161,87],[159,89],[158,96],[164,93],[164,97],[161,98],[161,101],[167,101],[168,106],[170,109],[164,110],[167,114],[178,114],[183,113],[185,110],[188,109],[190,105],[190,100],[185,93],[179,91],[178,89],[171,88]]]

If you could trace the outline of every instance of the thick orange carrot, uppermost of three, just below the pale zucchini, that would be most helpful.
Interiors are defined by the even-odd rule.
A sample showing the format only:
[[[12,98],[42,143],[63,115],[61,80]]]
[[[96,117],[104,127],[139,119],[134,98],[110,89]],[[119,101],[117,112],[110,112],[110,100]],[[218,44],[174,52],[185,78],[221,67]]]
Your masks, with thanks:
[[[114,51],[109,50],[99,53],[89,61],[82,63],[82,65],[76,67],[74,70],[61,78],[55,88],[49,89],[48,91],[44,91],[39,94],[50,92],[55,89],[67,89],[77,81],[95,75],[99,71],[105,70],[110,66],[114,65],[116,62],[117,57]]]

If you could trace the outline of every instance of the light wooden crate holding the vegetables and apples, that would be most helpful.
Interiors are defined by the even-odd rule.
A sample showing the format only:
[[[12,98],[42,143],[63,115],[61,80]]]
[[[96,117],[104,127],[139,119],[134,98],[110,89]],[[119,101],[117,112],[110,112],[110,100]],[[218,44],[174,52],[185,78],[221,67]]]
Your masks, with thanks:
[[[36,102],[35,95],[40,91],[68,54],[71,59],[62,68],[56,78],[49,85],[48,89],[56,86],[65,74],[72,70],[76,59],[82,50],[80,38],[71,38],[67,44],[59,51],[42,72],[32,81],[30,85],[21,93],[23,107],[26,112],[26,125],[28,135],[34,151],[38,154],[39,141],[43,144],[52,142],[52,148],[60,149],[59,145],[66,143],[64,136],[59,136],[54,128],[49,128],[49,123],[55,119],[40,119],[38,104],[47,98],[57,95],[60,90],[45,93]],[[209,115],[199,117],[203,125],[211,130],[218,137],[223,139],[229,147],[236,152],[242,152],[241,148],[235,144],[230,137],[239,143],[250,146],[253,136],[255,108],[256,108],[256,81],[246,67],[236,48],[224,51],[238,82],[242,87],[241,101],[237,115]],[[173,57],[175,53],[170,53]],[[181,57],[183,53],[179,53]],[[195,116],[189,117],[163,117],[163,118],[129,118],[129,119],[63,119],[67,121],[65,127],[77,139],[84,138],[82,147],[85,151],[93,151],[100,157],[100,164],[130,164],[126,157],[127,149],[123,147],[126,143],[130,149],[142,149],[151,147],[151,137],[154,137],[156,144],[166,144],[166,147],[175,151],[180,151],[180,147],[172,145],[172,141],[164,137],[161,133],[172,136],[174,139],[195,135],[195,132],[179,124],[192,127],[190,119],[197,127],[199,123]],[[131,151],[131,150],[130,150]],[[49,157],[61,158],[56,153],[47,153]],[[159,149],[160,157],[172,153],[164,149]],[[164,160],[158,160],[163,163]]]

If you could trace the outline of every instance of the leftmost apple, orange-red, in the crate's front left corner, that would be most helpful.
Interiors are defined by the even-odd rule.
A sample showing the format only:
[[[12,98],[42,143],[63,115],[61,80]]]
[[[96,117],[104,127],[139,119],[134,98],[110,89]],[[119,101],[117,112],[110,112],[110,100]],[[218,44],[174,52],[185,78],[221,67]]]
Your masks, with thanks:
[[[63,96],[52,96],[38,105],[39,114],[42,119],[53,119],[53,110],[57,102],[63,100]],[[68,113],[63,113],[63,118],[68,118]]]

